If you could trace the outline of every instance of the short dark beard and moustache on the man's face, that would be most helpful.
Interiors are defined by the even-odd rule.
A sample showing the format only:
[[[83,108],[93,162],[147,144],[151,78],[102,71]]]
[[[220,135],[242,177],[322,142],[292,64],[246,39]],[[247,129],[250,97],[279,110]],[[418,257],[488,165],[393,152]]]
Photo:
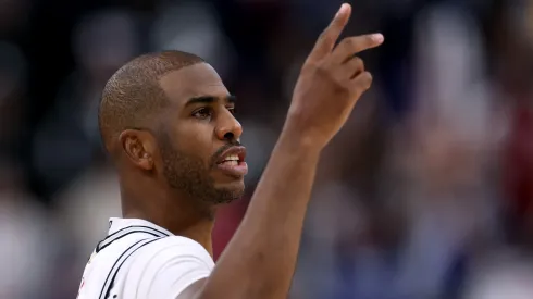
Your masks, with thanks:
[[[210,175],[218,155],[227,148],[235,146],[234,144],[219,149],[210,159],[209,166],[206,166],[201,158],[174,149],[166,134],[159,139],[163,160],[163,175],[171,188],[198,203],[209,205],[230,203],[243,197],[243,188],[216,188],[215,182]]]

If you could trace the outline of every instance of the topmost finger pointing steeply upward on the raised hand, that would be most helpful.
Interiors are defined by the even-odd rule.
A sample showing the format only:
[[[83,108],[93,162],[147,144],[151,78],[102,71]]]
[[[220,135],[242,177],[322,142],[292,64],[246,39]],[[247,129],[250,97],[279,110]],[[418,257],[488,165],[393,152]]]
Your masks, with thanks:
[[[343,5],[340,5],[337,14],[335,15],[335,17],[333,17],[333,21],[319,36],[317,42],[314,43],[314,48],[309,54],[308,60],[319,61],[332,52],[333,47],[335,47],[335,42],[338,39],[338,36],[340,36],[344,27],[346,26],[346,24],[348,24],[350,15],[350,4],[344,3]]]

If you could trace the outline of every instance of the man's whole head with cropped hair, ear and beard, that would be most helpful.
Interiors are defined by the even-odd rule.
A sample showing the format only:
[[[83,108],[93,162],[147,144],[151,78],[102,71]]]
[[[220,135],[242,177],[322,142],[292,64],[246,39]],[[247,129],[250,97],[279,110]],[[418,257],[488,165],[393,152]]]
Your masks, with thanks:
[[[202,59],[146,54],[106,85],[100,132],[122,171],[137,171],[191,200],[228,202],[243,195],[247,171],[234,100]]]

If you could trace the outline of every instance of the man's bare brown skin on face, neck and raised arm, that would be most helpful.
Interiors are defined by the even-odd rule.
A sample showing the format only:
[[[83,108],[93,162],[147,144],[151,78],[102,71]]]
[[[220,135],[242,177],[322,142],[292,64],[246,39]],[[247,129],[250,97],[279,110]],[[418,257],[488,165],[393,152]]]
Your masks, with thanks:
[[[177,299],[287,297],[321,152],[372,83],[362,60],[354,55],[383,42],[381,35],[365,35],[345,38],[335,47],[350,13],[344,4],[306,60],[285,126],[248,211],[210,277],[190,285]],[[244,185],[241,178],[212,171],[209,161],[220,147],[238,139],[241,128],[223,101],[227,90],[207,64],[172,73],[161,86],[174,108],[153,120],[161,122],[169,138],[138,129],[120,138],[125,153],[119,161],[125,216],[151,221],[210,249],[213,207],[236,197]],[[186,99],[206,95],[218,99],[213,111],[219,114],[210,122],[190,117],[185,108]],[[177,164],[188,172],[169,169]],[[176,177],[206,194],[176,184]]]

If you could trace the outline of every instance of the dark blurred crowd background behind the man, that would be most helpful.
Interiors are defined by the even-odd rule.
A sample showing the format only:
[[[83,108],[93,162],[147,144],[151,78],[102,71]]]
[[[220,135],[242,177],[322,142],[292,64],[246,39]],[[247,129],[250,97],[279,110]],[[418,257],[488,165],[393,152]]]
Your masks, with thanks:
[[[323,154],[293,299],[533,298],[533,1],[357,0],[374,85]],[[239,101],[245,199],[337,0],[0,1],[0,298],[75,298],[120,215],[107,79],[147,51],[208,60]]]

